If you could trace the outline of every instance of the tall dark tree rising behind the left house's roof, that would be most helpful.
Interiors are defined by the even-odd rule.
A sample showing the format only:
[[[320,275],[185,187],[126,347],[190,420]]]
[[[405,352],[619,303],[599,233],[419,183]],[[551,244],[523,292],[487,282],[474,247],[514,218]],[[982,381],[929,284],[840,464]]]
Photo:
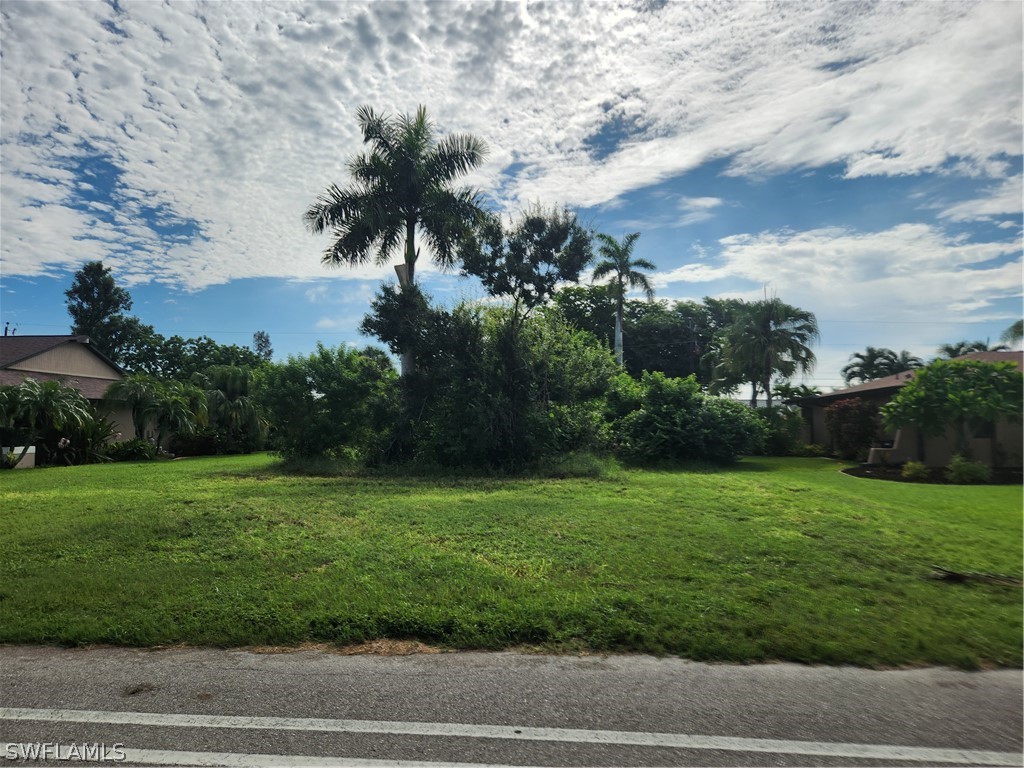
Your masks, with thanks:
[[[88,336],[96,348],[115,362],[120,362],[124,341],[125,312],[131,309],[131,295],[119,287],[111,269],[101,261],[90,261],[75,272],[71,288],[65,291],[71,332]]]

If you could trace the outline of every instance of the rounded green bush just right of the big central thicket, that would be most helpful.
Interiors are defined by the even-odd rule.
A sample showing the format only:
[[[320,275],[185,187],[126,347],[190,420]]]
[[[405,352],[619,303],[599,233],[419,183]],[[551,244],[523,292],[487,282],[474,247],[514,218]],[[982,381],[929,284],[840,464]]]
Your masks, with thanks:
[[[727,463],[764,444],[765,426],[753,410],[705,395],[692,376],[645,373],[637,381],[621,374],[612,381],[607,413],[617,451],[630,461]]]

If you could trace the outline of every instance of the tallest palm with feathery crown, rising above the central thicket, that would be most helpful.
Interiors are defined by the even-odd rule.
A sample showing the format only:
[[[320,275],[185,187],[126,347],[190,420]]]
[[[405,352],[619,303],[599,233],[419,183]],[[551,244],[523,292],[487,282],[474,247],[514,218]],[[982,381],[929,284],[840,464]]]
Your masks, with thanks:
[[[480,208],[474,190],[452,184],[483,161],[487,147],[469,134],[436,139],[424,106],[415,116],[396,118],[360,106],[357,120],[370,150],[349,161],[348,186],[332,184],[309,207],[306,225],[334,238],[322,259],[330,266],[386,264],[401,251],[403,261],[395,271],[401,289],[412,290],[418,231],[434,261],[443,268],[455,265],[457,246]],[[403,351],[402,375],[413,367],[412,351]]]

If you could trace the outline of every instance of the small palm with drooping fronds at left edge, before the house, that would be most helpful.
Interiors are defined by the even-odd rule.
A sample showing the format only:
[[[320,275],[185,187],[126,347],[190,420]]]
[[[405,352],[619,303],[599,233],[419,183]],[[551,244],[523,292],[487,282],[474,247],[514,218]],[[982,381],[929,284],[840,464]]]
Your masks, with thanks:
[[[9,447],[14,447],[14,439],[23,444],[10,466],[16,466],[48,433],[82,428],[90,419],[89,401],[58,381],[26,379],[16,386],[0,387],[0,427],[11,441]]]

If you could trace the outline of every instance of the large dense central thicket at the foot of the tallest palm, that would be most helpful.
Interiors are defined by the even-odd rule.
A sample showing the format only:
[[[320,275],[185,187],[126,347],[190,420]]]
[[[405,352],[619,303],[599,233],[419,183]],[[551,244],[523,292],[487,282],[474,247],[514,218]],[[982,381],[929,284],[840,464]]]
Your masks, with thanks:
[[[385,286],[362,330],[415,354],[392,462],[514,471],[606,441],[602,396],[614,364],[554,309],[446,309]]]

